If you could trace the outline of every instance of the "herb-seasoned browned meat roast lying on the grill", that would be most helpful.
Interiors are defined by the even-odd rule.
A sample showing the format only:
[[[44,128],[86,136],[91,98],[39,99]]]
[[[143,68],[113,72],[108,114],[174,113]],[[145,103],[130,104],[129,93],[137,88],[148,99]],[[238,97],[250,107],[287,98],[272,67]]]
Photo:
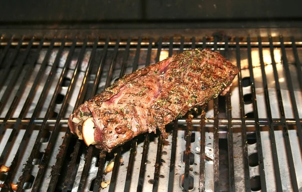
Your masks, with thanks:
[[[229,91],[239,69],[209,49],[184,51],[136,70],[70,115],[71,133],[106,151],[156,132],[218,94]]]

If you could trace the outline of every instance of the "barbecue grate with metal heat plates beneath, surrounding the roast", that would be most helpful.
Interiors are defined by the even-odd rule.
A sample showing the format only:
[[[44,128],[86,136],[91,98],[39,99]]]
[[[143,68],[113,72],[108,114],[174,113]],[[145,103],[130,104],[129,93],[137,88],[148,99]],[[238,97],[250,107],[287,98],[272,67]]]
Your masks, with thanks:
[[[167,140],[158,131],[105,153],[70,134],[67,117],[85,100],[193,48],[219,51],[241,72],[192,121],[167,125]],[[1,191],[302,190],[300,59],[302,41],[282,36],[2,38]]]

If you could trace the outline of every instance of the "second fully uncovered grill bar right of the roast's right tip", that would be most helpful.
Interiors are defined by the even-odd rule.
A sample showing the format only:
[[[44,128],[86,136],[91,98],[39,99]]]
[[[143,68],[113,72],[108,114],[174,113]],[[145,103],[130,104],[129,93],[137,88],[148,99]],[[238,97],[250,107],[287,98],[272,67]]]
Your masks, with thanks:
[[[251,80],[251,89],[252,89],[252,103],[254,109],[255,117],[255,128],[256,128],[256,140],[257,140],[257,150],[258,150],[258,159],[259,159],[259,169],[260,169],[260,179],[261,179],[261,191],[266,191],[266,180],[265,180],[265,170],[263,162],[263,152],[262,152],[262,143],[261,143],[261,134],[260,134],[260,125],[258,117],[258,107],[257,107],[257,98],[255,90],[255,79],[253,72],[253,63],[252,63],[252,50],[251,50],[251,39],[248,37],[248,62],[250,70],[250,80]]]

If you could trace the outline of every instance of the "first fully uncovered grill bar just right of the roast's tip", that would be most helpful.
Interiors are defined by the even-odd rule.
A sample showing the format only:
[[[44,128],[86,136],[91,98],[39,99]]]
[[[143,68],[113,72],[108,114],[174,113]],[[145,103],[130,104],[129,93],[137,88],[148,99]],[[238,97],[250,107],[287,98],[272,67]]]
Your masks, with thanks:
[[[240,69],[238,73],[238,86],[239,86],[239,107],[240,107],[240,115],[242,122],[242,146],[243,146],[243,154],[244,154],[244,173],[245,173],[245,188],[246,191],[251,191],[251,183],[250,183],[250,169],[249,169],[249,157],[248,157],[248,139],[247,139],[247,127],[246,127],[246,119],[245,119],[245,110],[243,104],[243,86],[242,86],[242,72],[241,72],[241,56],[240,56],[240,46],[239,46],[239,37],[236,37],[236,59],[237,59],[237,67]]]

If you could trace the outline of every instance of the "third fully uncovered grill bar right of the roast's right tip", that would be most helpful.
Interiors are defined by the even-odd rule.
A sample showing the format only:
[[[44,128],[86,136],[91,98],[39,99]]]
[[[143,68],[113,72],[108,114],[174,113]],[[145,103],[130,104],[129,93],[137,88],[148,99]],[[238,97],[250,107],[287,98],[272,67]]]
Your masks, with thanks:
[[[282,191],[281,175],[280,175],[280,168],[279,168],[278,154],[277,154],[277,147],[276,147],[276,140],[275,140],[275,130],[274,130],[274,126],[271,123],[272,122],[272,112],[271,112],[271,108],[270,108],[269,92],[268,92],[266,73],[265,73],[265,69],[264,69],[263,50],[262,50],[262,44],[261,44],[260,37],[258,38],[258,42],[259,42],[259,57],[260,57],[260,64],[261,64],[262,81],[263,81],[264,96],[265,96],[265,106],[266,106],[266,112],[267,112],[268,121],[269,121],[269,125],[268,125],[269,126],[269,136],[270,136],[271,147],[272,147],[272,156],[273,156],[273,163],[274,163],[276,186],[277,186],[278,191]]]

